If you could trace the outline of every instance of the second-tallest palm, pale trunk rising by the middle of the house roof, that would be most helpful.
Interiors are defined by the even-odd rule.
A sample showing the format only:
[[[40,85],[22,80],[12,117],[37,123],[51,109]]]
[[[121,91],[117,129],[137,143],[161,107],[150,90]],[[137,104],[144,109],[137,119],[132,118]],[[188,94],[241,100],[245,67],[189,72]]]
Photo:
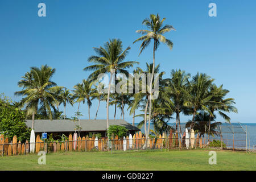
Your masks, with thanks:
[[[98,75],[101,73],[110,73],[108,98],[107,98],[107,129],[109,128],[109,97],[110,97],[110,86],[112,83],[112,77],[115,73],[125,73],[125,69],[133,67],[133,64],[137,61],[124,61],[130,47],[127,47],[124,51],[122,48],[122,41],[119,39],[112,39],[106,42],[103,47],[93,48],[97,53],[97,56],[90,56],[89,62],[96,63],[84,68],[84,71],[94,70],[89,75],[91,80],[96,80]]]

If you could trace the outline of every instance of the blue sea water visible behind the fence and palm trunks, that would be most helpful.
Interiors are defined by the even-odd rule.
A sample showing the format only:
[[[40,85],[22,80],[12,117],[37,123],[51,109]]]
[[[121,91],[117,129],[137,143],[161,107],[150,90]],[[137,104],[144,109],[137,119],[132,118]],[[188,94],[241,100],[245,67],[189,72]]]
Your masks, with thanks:
[[[168,123],[170,126],[173,126],[174,123]],[[241,124],[241,125],[240,125]],[[245,148],[246,146],[246,127],[247,127],[247,147],[253,149],[253,146],[255,146],[256,149],[256,123],[234,123],[234,145],[237,146],[237,148]],[[138,123],[135,123],[135,126],[137,126]],[[222,123],[222,129],[226,129],[226,123]],[[150,125],[150,129],[154,130],[154,126]],[[144,126],[141,128],[142,133],[144,133]],[[223,135],[224,143],[227,144],[228,147],[233,146],[233,133],[232,133],[232,127],[230,127],[230,131],[225,130]],[[207,137],[207,136],[205,136]],[[220,137],[214,137],[213,139],[220,140]]]

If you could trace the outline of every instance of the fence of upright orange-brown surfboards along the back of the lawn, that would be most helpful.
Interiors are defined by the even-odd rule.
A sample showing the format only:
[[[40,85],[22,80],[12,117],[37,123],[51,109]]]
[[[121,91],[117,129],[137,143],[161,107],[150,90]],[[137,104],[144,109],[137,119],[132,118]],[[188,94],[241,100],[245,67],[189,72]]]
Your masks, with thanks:
[[[125,144],[124,144],[125,140]],[[202,139],[194,138],[195,144],[193,147],[203,148],[204,144]],[[97,145],[96,143],[97,142]],[[77,140],[73,140],[72,135],[69,135],[68,140],[65,141],[53,141],[44,142],[40,139],[40,136],[36,136],[35,143],[29,143],[27,140],[25,143],[17,142],[16,136],[13,137],[12,141],[9,138],[5,138],[0,135],[0,154],[2,155],[26,155],[32,152],[31,144],[34,145],[34,152],[39,151],[46,152],[59,152],[59,151],[109,151],[109,150],[140,150],[144,146],[146,138],[142,135],[141,131],[133,135],[132,139],[129,137],[118,138],[118,136],[113,137],[108,140],[108,138],[101,138],[96,140],[95,137],[79,137]],[[191,142],[192,143],[192,142]],[[184,147],[184,140],[181,143],[175,134],[170,133],[169,136],[163,134],[159,135],[158,138],[148,138],[147,149],[172,149],[172,148],[182,148]]]

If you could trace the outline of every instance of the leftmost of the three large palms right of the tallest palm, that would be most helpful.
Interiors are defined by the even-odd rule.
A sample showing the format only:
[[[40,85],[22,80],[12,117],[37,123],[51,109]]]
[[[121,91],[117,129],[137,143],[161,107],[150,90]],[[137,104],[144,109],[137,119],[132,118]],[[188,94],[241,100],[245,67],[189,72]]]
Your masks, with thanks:
[[[182,140],[181,134],[181,126],[180,126],[180,113],[183,110],[184,105],[184,90],[187,90],[188,86],[188,79],[190,75],[185,73],[185,71],[181,71],[180,69],[175,71],[172,69],[171,71],[171,79],[168,80],[168,92],[174,101],[173,110],[176,113],[176,136],[177,136],[177,126],[179,122],[179,130],[180,130],[180,137]]]

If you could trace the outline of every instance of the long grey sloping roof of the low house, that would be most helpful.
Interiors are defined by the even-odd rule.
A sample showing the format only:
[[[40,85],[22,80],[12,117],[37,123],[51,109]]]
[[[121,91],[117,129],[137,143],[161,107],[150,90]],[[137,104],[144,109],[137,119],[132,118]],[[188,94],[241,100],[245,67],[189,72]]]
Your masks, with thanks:
[[[32,120],[26,120],[28,127],[32,126]],[[106,131],[106,119],[80,119],[81,131]],[[75,131],[76,125],[79,125],[79,121],[73,122],[70,119],[36,119],[34,124],[35,133],[41,132],[69,132]],[[110,125],[119,125],[126,127],[127,130],[140,130],[130,123],[121,119],[109,119]]]

